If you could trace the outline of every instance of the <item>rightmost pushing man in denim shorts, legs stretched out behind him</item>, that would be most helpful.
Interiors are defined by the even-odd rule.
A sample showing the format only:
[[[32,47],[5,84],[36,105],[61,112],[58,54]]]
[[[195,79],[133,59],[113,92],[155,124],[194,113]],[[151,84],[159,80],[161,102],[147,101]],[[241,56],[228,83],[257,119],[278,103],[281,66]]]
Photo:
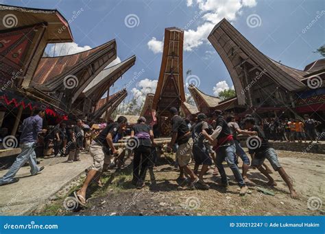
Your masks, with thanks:
[[[282,168],[278,161],[278,155],[276,155],[276,151],[274,151],[274,148],[271,148],[269,146],[269,142],[265,138],[264,132],[261,129],[261,127],[258,127],[255,125],[254,118],[246,118],[244,120],[245,122],[245,128],[250,129],[251,131],[257,132],[258,147],[254,149],[254,159],[252,160],[252,166],[255,166],[262,174],[269,179],[267,185],[269,186],[276,186],[276,181],[269,175],[267,170],[265,170],[262,167],[262,164],[265,159],[269,160],[269,163],[271,164],[272,168],[279,172],[282,179],[287,183],[287,186],[289,187],[289,191],[291,194],[291,198],[298,198],[298,194],[296,193],[296,190],[293,189],[293,184],[291,183],[291,180],[288,176],[288,174],[285,172],[285,169]]]

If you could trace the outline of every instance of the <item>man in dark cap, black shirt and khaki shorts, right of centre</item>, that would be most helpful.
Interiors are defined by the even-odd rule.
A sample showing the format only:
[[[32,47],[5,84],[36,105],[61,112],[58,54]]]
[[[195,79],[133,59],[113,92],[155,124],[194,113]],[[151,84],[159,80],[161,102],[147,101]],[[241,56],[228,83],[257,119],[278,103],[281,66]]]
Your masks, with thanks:
[[[191,138],[191,131],[189,131],[189,127],[186,125],[185,120],[182,117],[178,116],[178,110],[176,107],[171,107],[169,112],[172,116],[171,118],[171,142],[168,144],[168,151],[171,151],[171,147],[177,143],[178,149],[176,151],[176,160],[178,161],[178,165],[180,166],[180,177],[176,181],[180,185],[186,183],[186,177],[184,172],[191,177],[191,183],[189,184],[191,187],[195,185],[199,181],[196,174],[189,167],[189,162],[191,161],[191,153],[192,153],[192,145],[193,140]]]

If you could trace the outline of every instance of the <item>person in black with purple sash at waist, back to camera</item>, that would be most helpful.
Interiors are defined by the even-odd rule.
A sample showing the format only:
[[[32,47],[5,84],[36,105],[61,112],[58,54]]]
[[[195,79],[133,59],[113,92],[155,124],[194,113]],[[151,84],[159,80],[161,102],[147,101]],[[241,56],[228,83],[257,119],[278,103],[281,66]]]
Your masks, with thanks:
[[[144,186],[145,174],[147,173],[151,156],[151,148],[154,143],[154,132],[145,122],[145,117],[141,116],[138,123],[132,127],[131,138],[128,140],[127,146],[130,149],[134,149],[132,184],[136,185],[137,189],[141,189]],[[140,167],[141,171],[139,173]]]

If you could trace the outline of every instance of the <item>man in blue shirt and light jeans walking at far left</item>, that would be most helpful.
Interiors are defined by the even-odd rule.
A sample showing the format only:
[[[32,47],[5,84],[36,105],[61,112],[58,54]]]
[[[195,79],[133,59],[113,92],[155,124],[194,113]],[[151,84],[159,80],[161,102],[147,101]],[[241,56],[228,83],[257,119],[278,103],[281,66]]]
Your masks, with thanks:
[[[19,179],[14,178],[14,176],[27,161],[29,162],[30,173],[32,175],[38,174],[38,172],[44,169],[44,167],[39,168],[37,166],[36,153],[34,151],[38,133],[46,131],[42,129],[44,116],[45,110],[41,110],[36,116],[30,116],[23,120],[20,141],[21,153],[16,157],[16,161],[14,161],[14,164],[12,164],[8,172],[0,178],[0,185],[18,182]]]

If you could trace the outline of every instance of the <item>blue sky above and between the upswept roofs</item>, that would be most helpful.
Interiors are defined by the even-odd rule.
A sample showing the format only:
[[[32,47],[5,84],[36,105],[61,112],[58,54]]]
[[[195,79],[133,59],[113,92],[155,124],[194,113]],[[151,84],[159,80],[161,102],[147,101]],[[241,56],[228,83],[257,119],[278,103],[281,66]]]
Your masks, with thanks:
[[[158,79],[162,55],[159,50],[165,27],[185,27],[184,79],[186,70],[191,69],[192,75],[200,78],[199,88],[208,94],[217,94],[213,88],[218,82],[221,83],[217,88],[227,88],[225,81],[229,87],[232,86],[226,66],[206,40],[210,28],[221,18],[228,18],[265,55],[293,68],[303,69],[306,64],[320,59],[320,55],[313,51],[325,41],[323,0],[11,0],[3,3],[56,8],[67,20],[72,19],[78,10],[81,11],[70,23],[78,46],[75,51],[97,47],[115,38],[121,60],[136,55],[136,64],[115,83],[111,91],[122,88],[134,73],[144,70],[128,88],[129,96],[143,96],[154,89],[156,82],[152,80]],[[125,17],[130,14],[137,17],[135,27],[125,25]],[[252,14],[258,16],[258,27],[250,27],[247,23]],[[317,21],[312,23],[315,18]],[[192,19],[194,22],[189,23]],[[311,27],[306,29],[310,23]],[[51,47],[47,47],[47,51],[51,52]]]

